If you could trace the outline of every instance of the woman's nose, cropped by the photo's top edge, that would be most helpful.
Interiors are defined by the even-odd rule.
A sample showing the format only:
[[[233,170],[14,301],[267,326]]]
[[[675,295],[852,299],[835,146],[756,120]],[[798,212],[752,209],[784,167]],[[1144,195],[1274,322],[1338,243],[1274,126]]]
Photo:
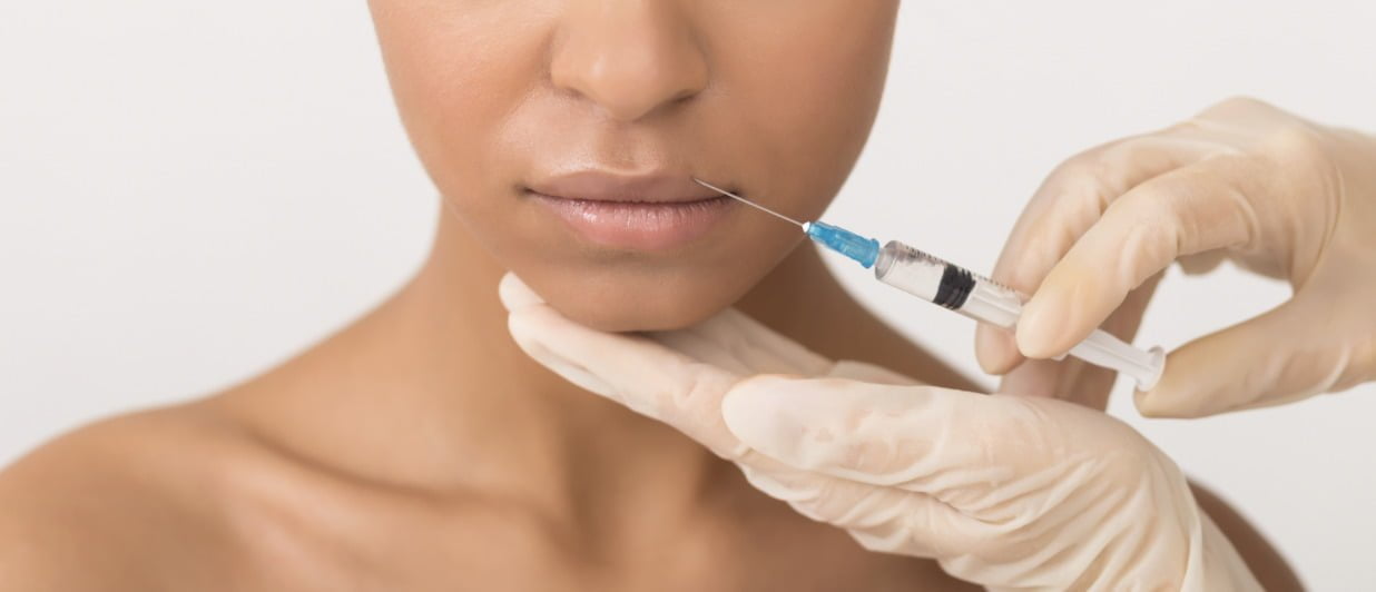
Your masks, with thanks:
[[[550,56],[555,87],[629,123],[707,85],[706,55],[678,3],[585,0],[567,6]]]

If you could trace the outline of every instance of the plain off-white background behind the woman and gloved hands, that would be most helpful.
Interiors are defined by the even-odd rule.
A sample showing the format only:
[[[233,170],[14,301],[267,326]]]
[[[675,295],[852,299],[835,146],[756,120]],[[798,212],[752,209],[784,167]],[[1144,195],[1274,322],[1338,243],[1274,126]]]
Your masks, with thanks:
[[[1236,94],[1376,132],[1373,74],[1376,3],[910,1],[830,218],[988,270],[1062,158]],[[337,0],[0,4],[0,464],[310,346],[417,268],[438,211],[365,6]],[[977,372],[966,319],[841,273]],[[1172,275],[1138,343],[1285,295],[1232,270]],[[1376,588],[1376,387],[1201,421],[1142,420],[1124,387],[1112,412],[1311,586]]]

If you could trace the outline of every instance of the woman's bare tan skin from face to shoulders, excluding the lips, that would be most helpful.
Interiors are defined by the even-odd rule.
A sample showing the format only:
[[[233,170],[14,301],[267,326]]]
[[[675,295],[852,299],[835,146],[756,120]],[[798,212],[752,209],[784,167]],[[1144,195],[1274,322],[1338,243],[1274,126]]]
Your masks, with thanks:
[[[614,252],[516,190],[570,161],[691,168],[817,213],[868,135],[897,1],[370,8],[442,194],[428,262],[263,376],[4,469],[0,589],[970,588],[866,552],[674,430],[564,383],[510,341],[497,297],[516,270],[611,330],[689,326],[736,303],[828,358],[974,388],[772,220],[736,213],[676,252]],[[724,256],[747,240],[754,255]],[[1104,376],[1086,376],[1069,387],[1102,397]],[[1205,508],[1263,582],[1293,586],[1245,522]]]

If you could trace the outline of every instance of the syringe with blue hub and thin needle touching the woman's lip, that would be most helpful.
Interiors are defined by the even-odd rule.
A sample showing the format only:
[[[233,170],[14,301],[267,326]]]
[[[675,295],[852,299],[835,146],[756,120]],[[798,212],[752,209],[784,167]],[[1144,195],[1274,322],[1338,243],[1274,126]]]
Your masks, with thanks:
[[[879,241],[874,238],[823,222],[798,222],[702,179],[694,180],[802,227],[802,231],[817,244],[856,260],[866,268],[874,267],[875,279],[916,297],[1006,329],[1014,328],[1022,313],[1026,297],[1017,290],[903,242],[889,241],[881,248]],[[1084,341],[1072,347],[1071,355],[1128,374],[1142,391],[1154,387],[1165,368],[1165,352],[1160,347],[1142,351],[1102,329],[1095,329]]]

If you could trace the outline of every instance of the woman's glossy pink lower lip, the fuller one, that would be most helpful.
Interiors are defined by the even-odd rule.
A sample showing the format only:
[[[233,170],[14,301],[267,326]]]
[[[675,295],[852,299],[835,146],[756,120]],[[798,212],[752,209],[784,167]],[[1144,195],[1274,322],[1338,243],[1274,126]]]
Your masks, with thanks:
[[[687,202],[567,200],[530,193],[589,241],[622,249],[667,251],[702,238],[732,201],[717,197]]]

